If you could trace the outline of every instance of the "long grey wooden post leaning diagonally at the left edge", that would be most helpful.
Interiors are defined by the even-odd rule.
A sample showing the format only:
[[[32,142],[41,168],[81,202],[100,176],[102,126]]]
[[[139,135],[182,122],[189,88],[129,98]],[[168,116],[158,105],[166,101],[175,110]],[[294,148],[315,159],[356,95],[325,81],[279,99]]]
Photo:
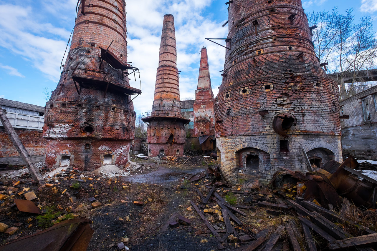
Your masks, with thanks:
[[[14,147],[17,149],[18,153],[21,156],[21,159],[25,162],[26,167],[28,167],[29,172],[33,179],[38,182],[38,184],[41,184],[44,182],[44,179],[38,169],[34,166],[33,162],[31,161],[30,155],[28,151],[26,150],[25,146],[22,144],[20,138],[18,138],[17,133],[13,129],[11,122],[9,122],[9,119],[6,117],[5,113],[3,112],[3,109],[0,108],[0,121],[2,122],[5,132],[8,134],[9,138],[11,139]]]

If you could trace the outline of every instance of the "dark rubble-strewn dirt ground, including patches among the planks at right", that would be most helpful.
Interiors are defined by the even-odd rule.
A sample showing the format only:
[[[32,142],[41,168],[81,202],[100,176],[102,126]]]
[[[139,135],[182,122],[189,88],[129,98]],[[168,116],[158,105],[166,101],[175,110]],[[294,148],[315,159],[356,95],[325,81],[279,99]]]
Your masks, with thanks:
[[[244,206],[241,211],[246,214],[245,217],[237,214],[242,225],[231,222],[236,233],[234,237],[237,239],[227,239],[225,223],[220,217],[205,213],[207,219],[214,220],[211,223],[216,225],[220,236],[225,236],[225,241],[220,243],[190,204],[190,201],[201,204],[198,191],[204,197],[209,193],[213,176],[206,174],[206,170],[208,167],[217,166],[215,160],[202,156],[192,157],[185,164],[183,162],[187,157],[166,160],[133,157],[131,160],[136,162],[138,167],[133,168],[127,174],[129,176],[114,178],[81,173],[74,168],[63,171],[61,168],[55,171],[41,168],[43,173],[52,171],[56,174],[50,176],[50,180],[46,179],[46,184],[37,186],[28,173],[12,179],[5,178],[4,174],[0,175],[0,223],[18,228],[11,235],[0,233],[0,245],[45,230],[60,220],[86,217],[92,222],[90,227],[94,230],[88,251],[115,251],[118,250],[117,244],[120,242],[134,251],[227,251],[251,242],[241,240],[242,237],[255,237],[266,228],[269,236],[273,228],[292,220],[299,222],[292,211],[277,212],[279,215],[274,216],[267,212],[267,208],[258,207],[258,201],[274,204],[284,201],[257,181],[234,187],[218,184],[215,192],[231,205],[241,208]],[[20,171],[22,170],[17,172]],[[205,173],[206,176],[198,181],[188,181],[194,174],[199,173]],[[25,192],[24,189],[28,191]],[[40,208],[41,216],[20,212],[14,204],[14,199],[25,199],[24,194],[31,191],[37,197],[33,201]],[[135,205],[134,201],[143,202],[143,205]],[[95,202],[100,204],[92,204]],[[212,197],[206,209],[211,210],[216,206],[218,207],[218,202]],[[374,212],[362,212],[354,207],[351,207],[349,212],[357,217],[352,218],[355,221],[377,230],[377,214]],[[189,219],[190,224],[179,224],[177,228],[169,227],[174,213]],[[178,220],[178,216],[173,220]],[[344,225],[340,227],[345,228]],[[359,230],[346,230],[355,236],[360,235],[357,233]],[[313,238],[318,250],[328,250],[327,242],[320,236],[314,235]],[[289,245],[288,242],[289,237],[284,234],[274,250],[282,250],[284,245]]]

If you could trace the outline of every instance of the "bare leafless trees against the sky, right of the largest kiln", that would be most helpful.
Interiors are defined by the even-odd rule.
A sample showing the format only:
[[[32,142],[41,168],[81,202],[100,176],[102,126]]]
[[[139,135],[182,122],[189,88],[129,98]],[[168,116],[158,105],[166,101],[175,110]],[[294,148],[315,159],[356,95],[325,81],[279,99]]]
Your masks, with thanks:
[[[338,73],[341,98],[349,98],[370,86],[356,80],[361,70],[375,67],[377,61],[372,18],[362,17],[355,24],[353,9],[339,14],[334,8],[331,12],[313,12],[308,20],[310,25],[318,26],[313,30],[313,43],[319,61],[329,62],[328,71]],[[344,84],[345,75],[352,78],[352,83]]]

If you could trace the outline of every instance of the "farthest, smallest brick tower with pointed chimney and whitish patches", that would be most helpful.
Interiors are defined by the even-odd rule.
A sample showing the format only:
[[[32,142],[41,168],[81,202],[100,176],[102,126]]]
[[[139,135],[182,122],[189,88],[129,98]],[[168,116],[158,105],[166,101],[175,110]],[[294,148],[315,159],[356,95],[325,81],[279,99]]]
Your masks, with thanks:
[[[213,136],[215,136],[213,102],[207,48],[203,47],[199,66],[198,89],[195,91],[194,136],[199,137],[199,143],[204,152],[213,150]]]

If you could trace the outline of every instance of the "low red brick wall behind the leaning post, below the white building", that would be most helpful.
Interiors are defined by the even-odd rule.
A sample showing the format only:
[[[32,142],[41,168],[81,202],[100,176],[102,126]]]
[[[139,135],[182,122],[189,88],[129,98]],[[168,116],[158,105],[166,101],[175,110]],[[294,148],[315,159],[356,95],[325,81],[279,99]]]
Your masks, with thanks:
[[[46,153],[46,142],[42,138],[41,130],[14,129],[20,137],[22,144],[31,155],[34,162],[44,161]],[[4,127],[0,127],[0,166],[25,165]]]

